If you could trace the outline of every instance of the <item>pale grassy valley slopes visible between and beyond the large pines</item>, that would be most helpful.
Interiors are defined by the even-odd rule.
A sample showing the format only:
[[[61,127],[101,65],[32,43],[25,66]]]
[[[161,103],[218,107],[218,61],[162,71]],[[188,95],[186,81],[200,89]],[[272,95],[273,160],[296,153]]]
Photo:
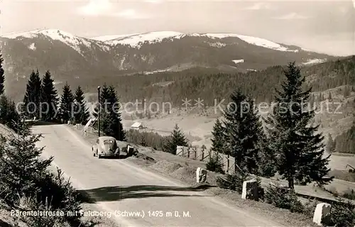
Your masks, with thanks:
[[[344,97],[342,89],[344,87],[328,89],[322,92],[325,99],[331,93],[332,101],[334,101],[334,105],[332,101],[328,103],[323,101],[321,103],[322,107],[320,107],[315,116],[315,123],[320,123],[320,132],[325,136],[325,142],[327,142],[328,134],[335,138],[337,135],[349,130],[354,120],[355,109],[351,106],[351,103],[355,99],[355,93],[352,92],[350,96]],[[318,92],[314,94],[318,94]],[[340,104],[340,109],[337,109],[337,103]],[[320,104],[318,105],[320,106]],[[123,123],[126,128],[129,128],[134,121],[141,121],[147,127],[146,131],[154,131],[160,135],[169,135],[173,131],[175,123],[178,123],[178,126],[185,132],[187,139],[193,145],[206,145],[208,148],[211,145],[211,132],[217,116],[219,114],[214,111],[214,108],[207,111],[197,109],[190,111],[182,109],[179,111],[178,109],[173,109],[172,114],[159,114],[151,119],[139,119],[136,116],[133,116],[132,119],[131,114],[123,113]],[[266,116],[266,114],[262,114],[262,116]],[[337,154],[331,156],[329,167],[332,170],[347,170],[346,165],[355,167],[355,156],[345,157]]]

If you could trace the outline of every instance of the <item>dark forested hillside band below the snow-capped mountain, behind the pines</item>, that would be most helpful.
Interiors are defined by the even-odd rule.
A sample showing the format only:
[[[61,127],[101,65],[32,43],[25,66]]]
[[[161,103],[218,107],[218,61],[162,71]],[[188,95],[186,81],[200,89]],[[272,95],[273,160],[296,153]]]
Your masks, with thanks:
[[[302,67],[312,92],[342,85],[355,85],[355,56]],[[247,73],[221,73],[215,69],[193,68],[182,72],[160,72],[157,74],[133,74],[117,77],[100,77],[90,84],[112,84],[121,101],[165,101],[179,106],[182,99],[204,99],[204,104],[213,106],[214,99],[228,101],[229,94],[241,88],[244,94],[251,94],[256,102],[273,101],[275,89],[283,80],[283,67],[269,67],[266,70]],[[91,92],[94,92],[91,89]]]

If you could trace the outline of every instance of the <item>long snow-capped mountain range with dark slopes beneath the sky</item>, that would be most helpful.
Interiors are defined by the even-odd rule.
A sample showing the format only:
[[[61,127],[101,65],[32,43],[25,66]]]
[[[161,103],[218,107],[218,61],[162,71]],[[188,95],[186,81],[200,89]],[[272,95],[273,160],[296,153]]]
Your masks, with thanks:
[[[196,66],[250,71],[290,61],[302,64],[333,58],[232,33],[156,31],[84,38],[58,29],[40,29],[2,35],[0,41],[8,82],[26,82],[37,68],[50,70],[55,79],[65,81]]]

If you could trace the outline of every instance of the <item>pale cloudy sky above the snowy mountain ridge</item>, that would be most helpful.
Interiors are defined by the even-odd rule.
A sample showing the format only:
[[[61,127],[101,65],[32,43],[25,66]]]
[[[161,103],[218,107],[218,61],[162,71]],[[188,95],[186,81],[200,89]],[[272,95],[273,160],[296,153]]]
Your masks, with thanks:
[[[38,28],[82,37],[149,31],[239,33],[332,55],[355,55],[355,0],[2,0],[2,35]]]

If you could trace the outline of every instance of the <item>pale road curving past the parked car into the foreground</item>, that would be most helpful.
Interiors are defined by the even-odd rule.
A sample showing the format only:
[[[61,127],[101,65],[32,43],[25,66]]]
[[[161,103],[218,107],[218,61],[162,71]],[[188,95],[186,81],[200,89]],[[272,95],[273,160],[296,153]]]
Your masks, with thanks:
[[[127,160],[99,160],[89,143],[67,126],[33,126],[33,133],[43,134],[38,142],[45,146],[43,155],[54,156],[54,165],[102,211],[111,212],[118,226],[281,226]]]

